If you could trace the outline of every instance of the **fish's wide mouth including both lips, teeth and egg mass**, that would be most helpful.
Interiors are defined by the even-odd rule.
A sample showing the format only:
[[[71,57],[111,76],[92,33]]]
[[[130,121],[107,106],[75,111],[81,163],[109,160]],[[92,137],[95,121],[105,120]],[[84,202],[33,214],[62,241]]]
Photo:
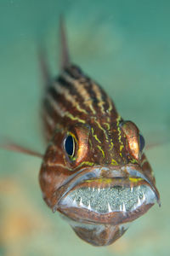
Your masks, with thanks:
[[[136,166],[86,168],[65,183],[57,195],[54,212],[84,223],[127,223],[147,212],[156,201],[160,204],[155,185]]]

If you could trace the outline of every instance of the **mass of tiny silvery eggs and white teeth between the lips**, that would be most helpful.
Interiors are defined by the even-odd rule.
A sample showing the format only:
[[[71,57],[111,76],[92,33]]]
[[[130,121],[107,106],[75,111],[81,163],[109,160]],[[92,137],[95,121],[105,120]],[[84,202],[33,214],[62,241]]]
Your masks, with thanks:
[[[112,188],[82,187],[73,189],[61,204],[87,209],[99,214],[110,212],[133,212],[143,204],[154,203],[156,196],[147,185],[131,188],[115,186]]]

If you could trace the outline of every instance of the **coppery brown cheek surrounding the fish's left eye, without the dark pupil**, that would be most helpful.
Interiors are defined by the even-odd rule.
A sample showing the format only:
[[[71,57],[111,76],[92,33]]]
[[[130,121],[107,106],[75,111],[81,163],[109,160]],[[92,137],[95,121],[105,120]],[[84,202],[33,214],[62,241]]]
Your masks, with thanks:
[[[76,160],[71,161],[69,159],[63,146],[67,132],[57,132],[53,141],[49,143],[42,161],[39,182],[43,199],[51,208],[57,203],[56,196],[54,196],[57,190],[73,174],[75,168],[81,166],[82,162],[87,160],[88,156],[88,128],[77,125],[74,131],[72,129],[69,129],[69,131],[71,134],[76,134],[78,141]]]

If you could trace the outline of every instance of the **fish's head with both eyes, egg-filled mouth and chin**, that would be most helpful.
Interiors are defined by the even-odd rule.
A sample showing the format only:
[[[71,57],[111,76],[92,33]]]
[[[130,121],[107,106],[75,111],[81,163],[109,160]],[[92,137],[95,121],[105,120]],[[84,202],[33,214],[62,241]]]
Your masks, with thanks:
[[[48,206],[95,246],[111,244],[160,203],[138,127],[120,118],[99,124],[54,131],[39,175]]]

